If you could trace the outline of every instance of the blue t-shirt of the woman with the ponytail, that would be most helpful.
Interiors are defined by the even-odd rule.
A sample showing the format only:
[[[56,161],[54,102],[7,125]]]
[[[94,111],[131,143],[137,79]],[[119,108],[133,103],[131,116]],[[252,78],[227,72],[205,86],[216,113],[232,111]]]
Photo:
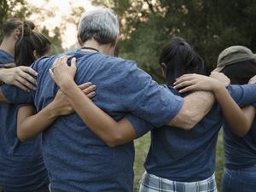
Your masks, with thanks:
[[[0,50],[0,65],[11,62],[13,56]],[[0,186],[6,191],[34,191],[49,183],[48,172],[41,136],[25,143],[17,138],[18,108],[15,104],[0,103]]]

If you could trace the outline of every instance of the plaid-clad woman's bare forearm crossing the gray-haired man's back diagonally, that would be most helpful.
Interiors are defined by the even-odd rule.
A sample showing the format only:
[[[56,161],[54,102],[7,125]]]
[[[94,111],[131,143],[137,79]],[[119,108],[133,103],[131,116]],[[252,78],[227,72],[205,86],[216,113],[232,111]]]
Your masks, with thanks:
[[[130,142],[136,137],[131,129],[129,131],[122,127],[119,122],[91,102],[74,82],[69,82],[66,86],[61,87],[61,90],[79,117],[83,119],[84,124],[110,147]]]

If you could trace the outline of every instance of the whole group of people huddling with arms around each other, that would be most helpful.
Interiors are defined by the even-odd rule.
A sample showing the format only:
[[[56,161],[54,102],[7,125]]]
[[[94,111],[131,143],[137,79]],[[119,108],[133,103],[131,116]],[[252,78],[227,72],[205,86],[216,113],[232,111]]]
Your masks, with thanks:
[[[3,24],[0,186],[4,192],[131,192],[133,140],[151,132],[140,192],[215,192],[224,130],[223,192],[256,190],[256,57],[231,46],[207,76],[183,38],[160,54],[165,85],[113,55],[111,9],[82,16],[81,49],[50,55],[28,20]],[[75,34],[70,34],[75,35]],[[67,37],[68,38],[68,37]]]

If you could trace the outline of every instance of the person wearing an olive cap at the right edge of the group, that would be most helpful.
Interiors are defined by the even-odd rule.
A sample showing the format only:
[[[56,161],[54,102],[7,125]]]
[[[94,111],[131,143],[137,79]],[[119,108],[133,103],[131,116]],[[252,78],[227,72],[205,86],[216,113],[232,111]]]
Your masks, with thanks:
[[[218,55],[217,67],[214,71],[228,76],[231,84],[247,84],[249,79],[256,75],[256,55],[247,47],[231,46]],[[247,134],[244,137],[237,137],[230,131],[229,125],[224,124],[223,192],[254,192],[256,189],[254,107],[243,108],[252,124],[246,130]]]

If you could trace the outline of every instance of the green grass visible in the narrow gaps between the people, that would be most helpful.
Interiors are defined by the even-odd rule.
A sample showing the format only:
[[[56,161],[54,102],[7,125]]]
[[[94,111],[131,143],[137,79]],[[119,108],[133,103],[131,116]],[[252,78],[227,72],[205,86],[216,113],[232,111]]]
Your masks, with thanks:
[[[144,137],[137,139],[137,141],[135,141],[136,157],[135,157],[135,163],[134,163],[134,189],[133,189],[134,192],[138,191],[139,182],[141,177],[143,176],[143,172],[144,172],[143,162],[148,153],[149,143],[150,143],[149,133]],[[220,183],[221,183],[221,177],[222,177],[222,171],[223,171],[223,160],[224,160],[222,143],[223,143],[222,131],[220,131],[218,135],[218,146],[217,146],[217,152],[216,152],[216,163],[217,163],[216,180],[218,185],[218,191],[220,191]]]

